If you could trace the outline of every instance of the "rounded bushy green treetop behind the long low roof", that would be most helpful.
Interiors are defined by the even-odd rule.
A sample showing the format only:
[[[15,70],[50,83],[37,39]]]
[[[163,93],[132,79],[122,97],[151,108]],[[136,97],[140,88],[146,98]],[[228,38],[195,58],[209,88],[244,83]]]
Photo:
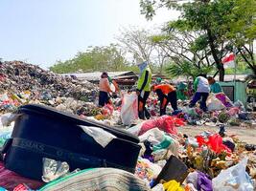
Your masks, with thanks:
[[[57,61],[50,70],[58,73],[76,73],[93,71],[123,71],[128,68],[122,50],[117,45],[89,47],[84,53],[77,53],[74,58]]]

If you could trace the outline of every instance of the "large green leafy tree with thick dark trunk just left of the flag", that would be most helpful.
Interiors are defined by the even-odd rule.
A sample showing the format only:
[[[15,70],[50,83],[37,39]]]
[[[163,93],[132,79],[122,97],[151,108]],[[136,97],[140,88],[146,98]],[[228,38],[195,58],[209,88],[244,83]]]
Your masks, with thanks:
[[[221,81],[224,80],[221,58],[225,55],[223,51],[228,50],[224,47],[234,45],[234,42],[244,36],[243,46],[240,47],[245,49],[247,38],[249,37],[250,41],[255,38],[255,0],[195,0],[181,5],[170,0],[141,0],[142,13],[148,18],[151,18],[155,14],[154,9],[159,7],[181,11],[181,16],[173,23],[173,27],[183,26],[185,31],[205,33]],[[241,32],[244,34],[238,35]],[[246,55],[250,57],[251,63],[254,60],[251,58],[253,53],[247,51]]]

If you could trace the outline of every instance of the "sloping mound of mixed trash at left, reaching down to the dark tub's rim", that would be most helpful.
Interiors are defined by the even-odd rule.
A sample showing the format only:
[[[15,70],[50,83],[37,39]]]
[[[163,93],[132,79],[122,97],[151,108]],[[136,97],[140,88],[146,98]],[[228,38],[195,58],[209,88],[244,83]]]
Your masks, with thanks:
[[[96,116],[93,104],[98,94],[95,85],[45,71],[21,61],[0,62],[0,113],[15,112],[24,104],[57,107],[74,115]]]

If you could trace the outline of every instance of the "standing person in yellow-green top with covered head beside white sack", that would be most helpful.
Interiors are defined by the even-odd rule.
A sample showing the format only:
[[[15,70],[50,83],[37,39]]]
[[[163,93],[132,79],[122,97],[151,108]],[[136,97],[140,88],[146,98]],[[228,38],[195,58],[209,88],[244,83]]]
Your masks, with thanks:
[[[139,118],[145,119],[146,112],[146,101],[151,93],[151,69],[148,65],[148,62],[142,62],[138,64],[140,73],[139,79],[137,82],[137,96],[138,96],[138,113]]]

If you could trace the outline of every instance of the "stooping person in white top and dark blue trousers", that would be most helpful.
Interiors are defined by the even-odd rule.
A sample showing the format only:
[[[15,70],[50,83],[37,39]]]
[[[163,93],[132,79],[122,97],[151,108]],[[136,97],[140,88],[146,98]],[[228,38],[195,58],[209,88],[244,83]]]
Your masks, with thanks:
[[[194,81],[194,89],[196,94],[190,102],[189,107],[194,107],[198,100],[200,100],[200,109],[203,112],[207,111],[206,100],[209,96],[210,87],[208,80],[206,79],[206,74],[199,74]]]

